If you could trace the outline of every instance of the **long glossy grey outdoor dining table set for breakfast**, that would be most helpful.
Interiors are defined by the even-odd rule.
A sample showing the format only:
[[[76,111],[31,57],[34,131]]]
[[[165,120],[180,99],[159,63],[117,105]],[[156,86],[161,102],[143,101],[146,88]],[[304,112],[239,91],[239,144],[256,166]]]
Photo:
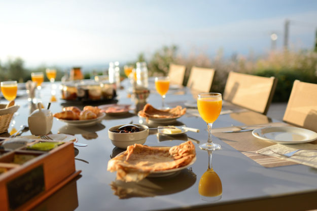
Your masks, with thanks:
[[[150,83],[150,86],[153,84]],[[123,83],[124,89],[118,91],[117,101],[120,104],[131,104],[134,101],[128,97],[129,84]],[[153,89],[153,87],[150,87]],[[62,106],[68,105],[60,98],[57,92],[57,102],[52,102],[52,113],[60,112]],[[44,84],[42,101],[46,106],[50,99],[50,85]],[[169,107],[185,102],[195,101],[192,93],[186,87],[181,90],[169,90],[165,103]],[[148,103],[159,108],[161,97],[151,91]],[[30,104],[21,97],[16,99],[21,107],[19,115],[15,117],[16,127],[27,124],[30,113]],[[74,104],[82,106],[81,104]],[[279,121],[262,114],[224,103],[223,111],[228,105],[231,112],[221,114],[213,124],[213,129],[231,127],[231,125],[270,125]],[[193,112],[193,114],[190,113]],[[126,123],[147,124],[133,111],[126,115],[109,116],[94,126],[75,127],[54,118],[52,133],[67,133],[75,135],[78,142],[87,144],[87,147],[75,147],[78,155],[76,169],[82,170],[79,177],[66,184],[53,195],[34,207],[34,210],[209,210],[209,209],[291,209],[307,210],[317,208],[317,169],[292,164],[276,167],[265,167],[243,154],[243,150],[232,147],[230,142],[239,133],[227,134],[222,138],[213,136],[213,142],[221,145],[222,149],[214,151],[212,164],[219,175],[222,184],[222,197],[218,201],[201,200],[198,193],[198,184],[202,174],[208,167],[208,153],[200,150],[198,143],[207,142],[207,125],[198,116],[194,109],[173,123],[198,128],[200,132],[188,131],[183,138],[160,138],[157,131],[151,131],[145,145],[148,146],[175,146],[192,140],[196,148],[196,161],[189,168],[168,177],[146,178],[140,183],[116,183],[116,173],[107,171],[108,161],[118,153],[124,151],[112,145],[108,137],[108,129],[115,125]],[[197,111],[196,111],[197,113]],[[221,131],[221,130],[220,130]],[[252,131],[244,132],[251,134]],[[30,132],[25,132],[25,135]],[[185,137],[185,138],[184,138]],[[251,136],[249,136],[251,137]],[[232,138],[232,139],[231,139]],[[252,139],[253,142],[262,142]],[[118,182],[118,181],[117,181]],[[119,184],[121,198],[112,189]],[[117,192],[119,190],[117,189]],[[60,208],[62,207],[62,209]]]

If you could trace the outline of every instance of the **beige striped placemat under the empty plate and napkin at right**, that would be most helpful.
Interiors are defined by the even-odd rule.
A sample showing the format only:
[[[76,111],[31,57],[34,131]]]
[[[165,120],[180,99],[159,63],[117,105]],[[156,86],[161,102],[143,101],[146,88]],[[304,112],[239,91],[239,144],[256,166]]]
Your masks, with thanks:
[[[275,122],[266,125],[254,125],[250,128],[259,128],[265,126],[286,126],[288,124],[284,122]],[[258,150],[276,145],[273,142],[261,140],[252,135],[252,131],[248,132],[236,132],[236,133],[223,133],[222,131],[228,131],[230,129],[238,130],[238,128],[227,127],[213,129],[213,135],[219,137],[223,142],[230,145],[234,149],[240,151],[245,156],[256,161],[258,164],[264,167],[277,167],[298,164],[289,160],[280,159],[278,157],[271,157],[266,155],[257,154]],[[317,144],[317,143],[316,143]]]

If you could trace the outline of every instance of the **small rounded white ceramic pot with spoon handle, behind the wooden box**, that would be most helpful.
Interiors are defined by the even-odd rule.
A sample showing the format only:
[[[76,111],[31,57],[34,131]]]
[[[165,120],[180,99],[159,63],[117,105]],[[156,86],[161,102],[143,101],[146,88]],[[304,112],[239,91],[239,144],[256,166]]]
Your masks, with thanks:
[[[42,109],[42,103],[38,103],[38,109],[28,117],[28,127],[33,135],[48,134],[53,125],[53,115],[50,110]]]

